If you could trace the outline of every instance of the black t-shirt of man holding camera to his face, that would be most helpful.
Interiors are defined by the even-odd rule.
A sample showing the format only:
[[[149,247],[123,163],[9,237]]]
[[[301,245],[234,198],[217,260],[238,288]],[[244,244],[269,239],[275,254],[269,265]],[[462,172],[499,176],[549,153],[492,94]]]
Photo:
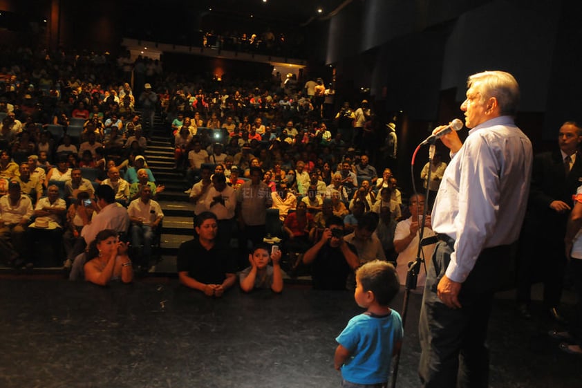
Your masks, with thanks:
[[[346,242],[348,248],[357,255],[355,246]],[[338,248],[332,248],[326,243],[317,252],[312,262],[311,279],[316,290],[345,290],[346,279],[352,272],[346,258]]]

